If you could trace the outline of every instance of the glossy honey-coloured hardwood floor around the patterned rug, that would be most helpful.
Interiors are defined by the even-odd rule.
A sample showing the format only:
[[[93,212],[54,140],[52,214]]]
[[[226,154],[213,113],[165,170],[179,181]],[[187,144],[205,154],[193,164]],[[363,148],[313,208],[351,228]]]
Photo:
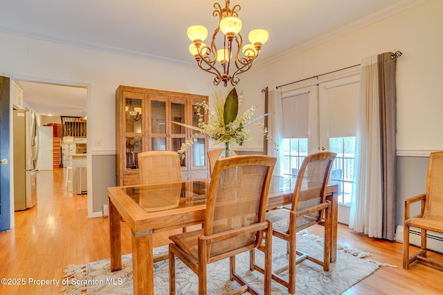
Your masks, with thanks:
[[[87,217],[87,195],[72,194],[64,187],[64,169],[38,174],[38,202],[26,211],[15,212],[15,228],[0,233],[0,294],[60,294],[63,270],[71,264],[84,264],[109,258],[107,218]],[[131,233],[122,225],[122,253],[131,253]],[[180,232],[181,229],[177,229]],[[322,228],[309,229],[322,234]],[[166,245],[173,232],[154,235],[154,247]],[[397,267],[380,267],[374,274],[345,294],[442,294],[443,271],[413,263],[401,267],[402,245],[355,234],[345,225],[338,227],[338,242],[361,251],[372,259]],[[415,248],[413,249],[415,250]],[[431,254],[443,260],[442,255]],[[34,282],[32,280],[35,280]],[[38,285],[37,280],[48,280]],[[51,280],[59,280],[55,285]]]

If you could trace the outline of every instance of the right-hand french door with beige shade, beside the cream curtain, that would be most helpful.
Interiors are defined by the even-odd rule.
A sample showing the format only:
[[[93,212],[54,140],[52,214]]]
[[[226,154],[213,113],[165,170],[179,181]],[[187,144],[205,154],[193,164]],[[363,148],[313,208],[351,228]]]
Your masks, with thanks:
[[[320,150],[336,153],[329,180],[338,184],[338,222],[349,224],[360,75],[318,84]]]

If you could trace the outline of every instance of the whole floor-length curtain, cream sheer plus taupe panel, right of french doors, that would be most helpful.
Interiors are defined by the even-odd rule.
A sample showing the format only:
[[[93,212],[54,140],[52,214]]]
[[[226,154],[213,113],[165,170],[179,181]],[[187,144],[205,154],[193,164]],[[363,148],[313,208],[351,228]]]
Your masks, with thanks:
[[[395,238],[397,194],[397,55],[361,63],[361,97],[350,227],[374,238]]]

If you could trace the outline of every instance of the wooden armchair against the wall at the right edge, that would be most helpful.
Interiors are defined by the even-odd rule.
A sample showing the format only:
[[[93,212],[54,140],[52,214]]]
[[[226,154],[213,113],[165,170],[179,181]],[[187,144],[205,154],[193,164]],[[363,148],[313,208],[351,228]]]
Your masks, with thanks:
[[[410,217],[410,205],[418,201],[421,201],[421,211],[418,215]],[[409,255],[410,227],[417,227],[421,231],[420,250],[411,256]],[[416,260],[443,269],[441,261],[427,257],[427,231],[443,234],[443,151],[431,153],[429,158],[426,194],[409,198],[404,202],[403,267],[405,269]]]

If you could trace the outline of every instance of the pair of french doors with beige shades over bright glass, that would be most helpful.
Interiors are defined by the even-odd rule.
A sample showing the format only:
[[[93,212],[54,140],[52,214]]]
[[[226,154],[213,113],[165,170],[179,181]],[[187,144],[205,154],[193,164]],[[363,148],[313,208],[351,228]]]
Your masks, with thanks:
[[[337,153],[330,182],[338,184],[338,221],[348,224],[354,178],[359,75],[282,91],[283,167],[296,177],[309,153]]]

